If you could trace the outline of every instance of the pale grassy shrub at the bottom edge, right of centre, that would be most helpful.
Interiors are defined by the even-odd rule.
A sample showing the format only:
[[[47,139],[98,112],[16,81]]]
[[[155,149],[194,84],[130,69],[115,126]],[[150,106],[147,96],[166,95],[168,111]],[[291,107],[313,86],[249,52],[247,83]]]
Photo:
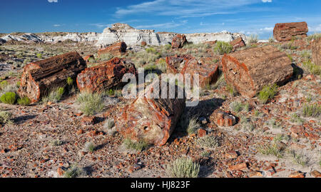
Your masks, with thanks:
[[[193,163],[191,158],[178,158],[167,166],[166,172],[173,178],[197,178],[200,165]]]

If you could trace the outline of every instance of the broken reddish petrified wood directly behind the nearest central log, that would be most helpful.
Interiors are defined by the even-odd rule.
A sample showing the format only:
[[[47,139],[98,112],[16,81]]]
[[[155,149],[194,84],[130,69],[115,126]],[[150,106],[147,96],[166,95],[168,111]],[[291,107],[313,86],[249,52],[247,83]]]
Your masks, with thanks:
[[[199,74],[200,87],[214,84],[218,80],[218,64],[214,64],[213,58],[195,59],[193,56],[166,57],[167,73],[190,74],[193,85],[193,74]]]

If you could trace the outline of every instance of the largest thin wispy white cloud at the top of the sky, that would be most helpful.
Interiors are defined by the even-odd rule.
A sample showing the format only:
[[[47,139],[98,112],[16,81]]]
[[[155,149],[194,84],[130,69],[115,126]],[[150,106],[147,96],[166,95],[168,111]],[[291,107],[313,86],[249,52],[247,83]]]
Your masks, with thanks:
[[[255,11],[255,9],[248,9],[246,6],[258,4],[261,1],[262,0],[154,0],[126,6],[125,8],[118,8],[116,16],[154,14],[158,16],[188,18],[215,14],[235,14],[241,11]]]

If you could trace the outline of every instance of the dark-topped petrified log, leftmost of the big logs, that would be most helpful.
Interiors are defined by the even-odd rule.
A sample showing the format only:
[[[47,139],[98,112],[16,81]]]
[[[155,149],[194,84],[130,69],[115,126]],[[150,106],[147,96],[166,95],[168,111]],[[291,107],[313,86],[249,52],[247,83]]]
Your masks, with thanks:
[[[28,96],[32,102],[58,86],[65,86],[66,79],[76,80],[76,76],[86,68],[86,61],[71,52],[37,61],[24,67],[19,88],[20,96]]]

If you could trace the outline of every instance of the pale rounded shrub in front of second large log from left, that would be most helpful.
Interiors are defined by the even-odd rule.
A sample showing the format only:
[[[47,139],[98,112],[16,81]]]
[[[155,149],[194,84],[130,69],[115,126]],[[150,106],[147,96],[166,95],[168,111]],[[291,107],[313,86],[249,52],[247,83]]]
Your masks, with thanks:
[[[103,110],[103,95],[92,94],[89,91],[83,91],[78,94],[76,102],[80,104],[80,110],[90,116]]]

